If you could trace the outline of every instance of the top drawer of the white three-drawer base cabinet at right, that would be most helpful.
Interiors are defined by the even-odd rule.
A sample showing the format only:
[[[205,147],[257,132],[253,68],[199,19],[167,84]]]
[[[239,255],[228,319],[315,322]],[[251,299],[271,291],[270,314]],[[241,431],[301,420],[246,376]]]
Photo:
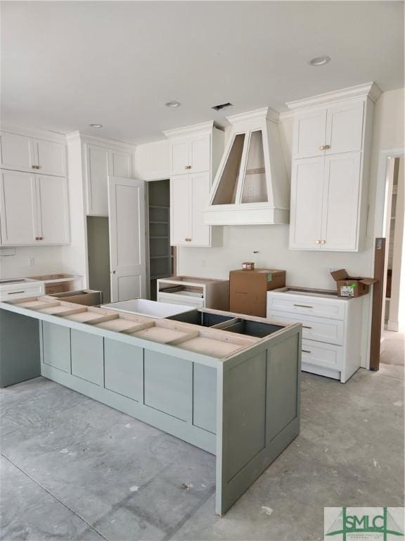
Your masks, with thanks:
[[[306,314],[321,318],[344,319],[345,300],[290,295],[288,293],[267,293],[267,310]]]

